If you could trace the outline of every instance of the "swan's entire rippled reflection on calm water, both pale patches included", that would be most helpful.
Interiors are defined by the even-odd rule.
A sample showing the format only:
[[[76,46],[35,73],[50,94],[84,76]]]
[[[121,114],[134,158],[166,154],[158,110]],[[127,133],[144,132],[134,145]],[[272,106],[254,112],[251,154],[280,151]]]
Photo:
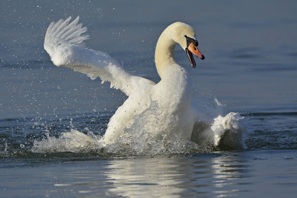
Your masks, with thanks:
[[[236,196],[238,185],[245,184],[236,179],[249,177],[250,171],[237,156],[123,157],[91,167],[78,163],[75,171],[59,174],[53,189],[92,197]]]

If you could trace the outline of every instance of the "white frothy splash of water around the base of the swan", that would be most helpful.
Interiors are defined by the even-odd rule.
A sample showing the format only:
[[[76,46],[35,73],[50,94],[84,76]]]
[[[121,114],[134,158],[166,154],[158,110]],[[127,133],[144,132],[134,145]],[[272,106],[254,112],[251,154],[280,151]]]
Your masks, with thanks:
[[[151,99],[151,97],[150,97]],[[89,129],[88,135],[77,130],[71,129],[70,132],[63,132],[59,137],[46,137],[41,141],[34,141],[31,149],[35,153],[49,152],[73,152],[87,153],[99,152],[106,153],[108,156],[139,156],[139,155],[167,155],[177,153],[200,153],[213,151],[212,145],[198,145],[190,140],[176,139],[167,141],[168,134],[162,134],[161,138],[154,138],[149,132],[150,125],[161,126],[166,129],[170,124],[159,121],[161,110],[158,101],[151,99],[151,104],[143,113],[134,116],[134,123],[130,128],[124,129],[126,136],[122,136],[113,144],[105,147],[102,137],[95,135]],[[151,119],[143,119],[151,118]]]

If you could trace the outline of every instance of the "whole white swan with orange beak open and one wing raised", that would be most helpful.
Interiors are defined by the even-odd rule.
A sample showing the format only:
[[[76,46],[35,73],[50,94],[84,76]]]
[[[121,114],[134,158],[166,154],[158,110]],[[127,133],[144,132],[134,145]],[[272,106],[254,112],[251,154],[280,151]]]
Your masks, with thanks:
[[[84,34],[87,28],[78,24],[79,16],[71,23],[70,19],[51,22],[46,31],[44,49],[53,64],[69,67],[92,80],[99,77],[102,83],[109,81],[110,88],[120,89],[128,96],[110,118],[101,140],[103,145],[129,136],[125,131],[132,127],[135,116],[142,114],[141,120],[145,121],[148,134],[166,143],[178,139],[190,140],[193,129],[199,123],[208,123],[216,145],[246,148],[243,138],[247,129],[242,123],[242,116],[230,112],[215,119],[209,118],[192,101],[191,77],[174,58],[176,44],[185,50],[193,68],[196,67],[193,54],[202,60],[205,58],[198,50],[198,41],[191,26],[175,22],[160,35],[155,50],[155,64],[161,80],[156,84],[131,75],[107,53],[86,48],[83,41],[89,39],[89,35]],[[153,103],[157,104],[158,118],[154,114],[143,114]],[[219,102],[217,104],[218,107],[221,105]],[[80,132],[75,131],[74,135],[79,139]]]

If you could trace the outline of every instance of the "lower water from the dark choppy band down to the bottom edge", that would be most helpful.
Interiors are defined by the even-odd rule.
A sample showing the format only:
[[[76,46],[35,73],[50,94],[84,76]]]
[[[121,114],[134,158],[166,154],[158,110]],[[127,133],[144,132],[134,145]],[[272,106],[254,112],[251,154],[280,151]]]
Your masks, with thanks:
[[[257,129],[247,150],[116,156],[34,153],[34,140],[69,127],[103,134],[108,115],[40,121],[1,120],[2,197],[294,197],[297,184],[296,113],[246,115]],[[44,124],[45,123],[45,124]],[[73,124],[72,124],[73,123]],[[72,125],[72,126],[71,126]]]

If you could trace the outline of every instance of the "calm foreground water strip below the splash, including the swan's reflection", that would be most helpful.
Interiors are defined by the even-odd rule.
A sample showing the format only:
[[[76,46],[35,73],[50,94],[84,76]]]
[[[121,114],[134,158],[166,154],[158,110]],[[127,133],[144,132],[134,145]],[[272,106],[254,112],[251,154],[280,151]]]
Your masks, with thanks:
[[[19,168],[10,167],[14,160],[2,159],[6,165],[0,169],[1,196],[253,197],[257,192],[263,197],[293,197],[296,193],[294,150],[191,156],[43,155],[18,159]],[[24,162],[31,166],[21,165]]]

